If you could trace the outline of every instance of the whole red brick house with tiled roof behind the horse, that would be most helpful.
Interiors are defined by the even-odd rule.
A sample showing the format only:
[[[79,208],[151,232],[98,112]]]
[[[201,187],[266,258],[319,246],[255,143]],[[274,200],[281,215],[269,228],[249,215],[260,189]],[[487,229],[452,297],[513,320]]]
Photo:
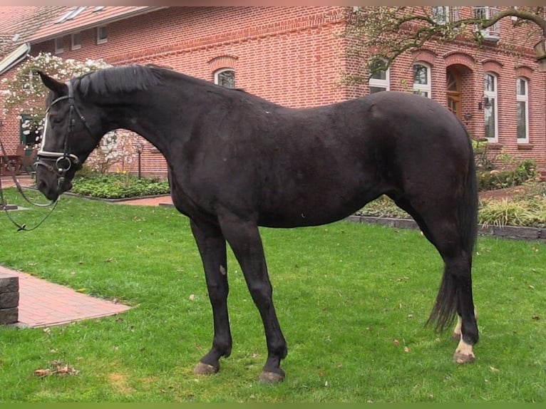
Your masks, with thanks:
[[[460,18],[475,13],[473,7],[441,9]],[[428,43],[370,83],[348,85],[343,74],[356,64],[339,34],[352,11],[341,6],[2,7],[0,41],[11,38],[11,51],[22,46],[22,58],[43,51],[82,61],[104,58],[113,65],[155,63],[294,108],[376,90],[418,90],[453,110],[473,137],[488,138],[492,155],[533,158],[546,172],[546,75],[537,71],[532,49],[538,35],[527,38],[526,29],[503,19],[481,48],[466,41]],[[16,59],[0,63],[0,78],[13,75]],[[14,150],[19,119],[0,119],[1,138]],[[166,172],[163,156],[148,143],[143,172]]]

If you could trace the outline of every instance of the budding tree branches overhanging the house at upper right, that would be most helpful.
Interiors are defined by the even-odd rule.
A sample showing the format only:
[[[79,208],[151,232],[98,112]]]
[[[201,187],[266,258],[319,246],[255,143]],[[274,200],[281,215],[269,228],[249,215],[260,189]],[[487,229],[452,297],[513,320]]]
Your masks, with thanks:
[[[512,26],[526,26],[527,40],[546,38],[546,7],[512,6],[502,11],[475,7],[470,18],[458,17],[458,6],[364,6],[354,7],[348,16],[344,36],[352,47],[349,56],[364,61],[361,73],[347,76],[353,83],[369,80],[373,73],[385,71],[406,51],[415,51],[428,41],[445,42],[456,38],[483,43],[484,30],[501,19],[513,17]],[[452,9],[449,11],[448,9]],[[491,9],[491,10],[485,10]],[[533,46],[531,43],[530,46]],[[538,57],[538,56],[537,56]]]

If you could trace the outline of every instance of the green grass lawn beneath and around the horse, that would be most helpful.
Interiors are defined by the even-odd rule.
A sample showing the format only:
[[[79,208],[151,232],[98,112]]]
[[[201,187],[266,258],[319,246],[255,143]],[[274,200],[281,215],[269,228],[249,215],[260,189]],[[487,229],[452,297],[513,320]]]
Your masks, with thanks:
[[[24,205],[14,190],[10,203]],[[28,227],[45,209],[12,212]],[[188,221],[171,207],[63,197],[34,232],[0,217],[0,264],[134,306],[51,328],[0,328],[1,402],[544,402],[546,247],[480,238],[475,363],[452,361],[450,333],[424,327],[441,279],[415,230],[337,222],[262,229],[289,355],[262,385],[262,323],[229,254],[232,356],[192,370],[212,312]],[[36,306],[41,308],[41,306]],[[76,375],[34,375],[56,363]]]

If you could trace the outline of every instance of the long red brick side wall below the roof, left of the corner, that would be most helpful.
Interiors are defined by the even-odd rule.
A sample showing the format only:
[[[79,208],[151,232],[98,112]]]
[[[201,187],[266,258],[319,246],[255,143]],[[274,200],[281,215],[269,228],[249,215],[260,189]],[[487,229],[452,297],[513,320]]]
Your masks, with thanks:
[[[156,63],[209,81],[229,62],[238,88],[282,105],[302,107],[346,98],[337,86],[343,71],[339,7],[172,7],[108,26],[108,42],[82,33],[80,50],[63,58],[104,58],[108,63]],[[53,41],[33,48],[52,52]],[[151,145],[147,173],[165,173]]]

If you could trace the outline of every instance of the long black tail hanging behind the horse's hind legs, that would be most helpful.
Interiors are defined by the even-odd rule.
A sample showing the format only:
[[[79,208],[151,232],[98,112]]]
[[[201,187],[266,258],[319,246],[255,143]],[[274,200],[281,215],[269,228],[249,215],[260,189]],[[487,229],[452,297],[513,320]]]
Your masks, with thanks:
[[[464,126],[463,129],[465,129]],[[470,141],[470,136],[466,130],[465,133],[468,136],[470,155],[468,155],[463,198],[458,205],[458,229],[461,233],[463,250],[469,258],[469,268],[471,269],[472,256],[478,237],[478,182],[476,180],[472,142]],[[468,274],[470,274],[470,271]],[[453,324],[456,314],[457,287],[455,284],[455,277],[445,268],[440,289],[438,290],[438,296],[436,296],[436,303],[434,304],[427,324],[436,321],[436,329],[438,331],[443,331],[445,327]]]

